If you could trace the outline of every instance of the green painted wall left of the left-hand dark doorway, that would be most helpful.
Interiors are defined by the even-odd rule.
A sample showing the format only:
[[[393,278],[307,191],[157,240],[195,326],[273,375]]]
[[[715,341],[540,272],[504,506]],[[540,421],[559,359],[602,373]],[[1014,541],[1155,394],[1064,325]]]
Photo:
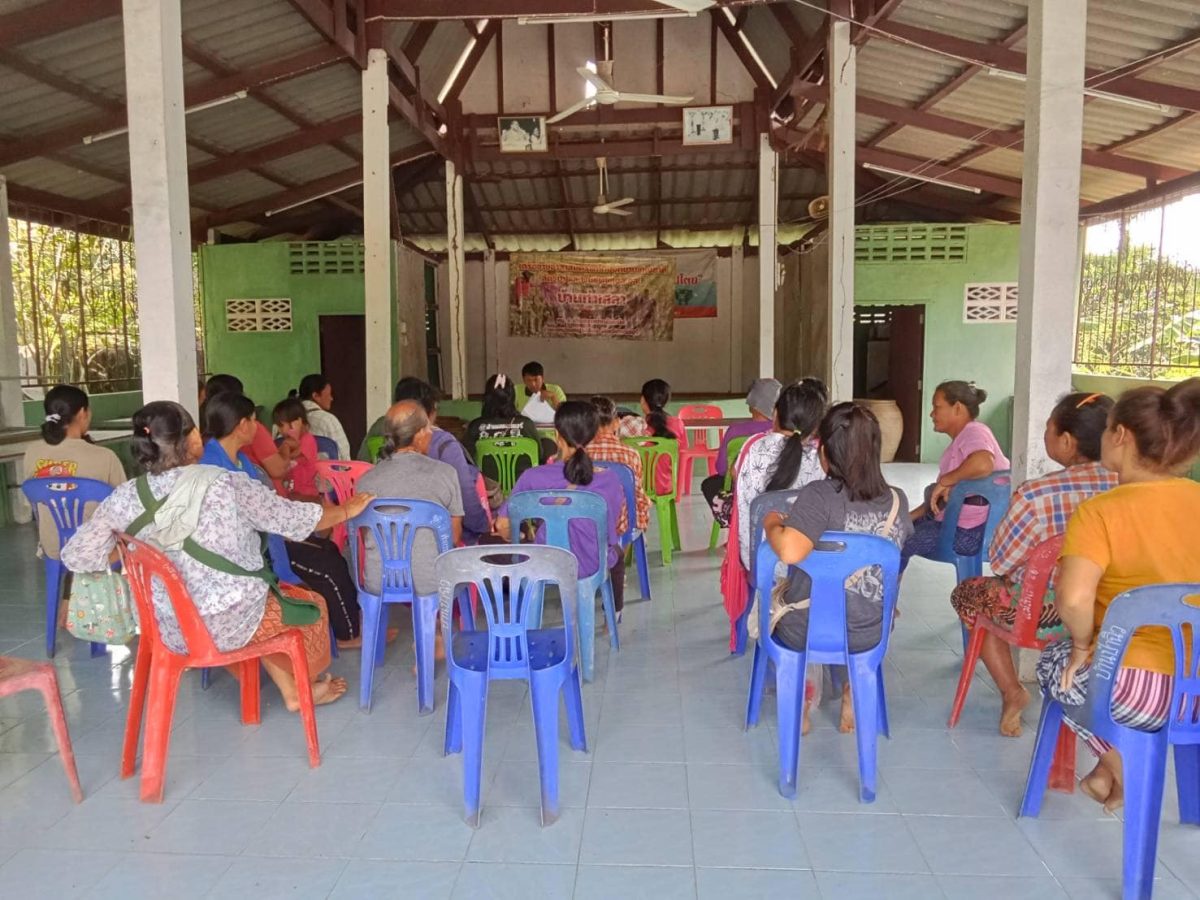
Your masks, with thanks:
[[[284,241],[200,247],[200,278],[209,371],[241,378],[247,395],[268,410],[304,376],[320,371],[319,317],[362,314],[361,272],[293,275]],[[292,331],[230,332],[226,300],[242,298],[290,298]],[[395,310],[394,302],[394,335]]]

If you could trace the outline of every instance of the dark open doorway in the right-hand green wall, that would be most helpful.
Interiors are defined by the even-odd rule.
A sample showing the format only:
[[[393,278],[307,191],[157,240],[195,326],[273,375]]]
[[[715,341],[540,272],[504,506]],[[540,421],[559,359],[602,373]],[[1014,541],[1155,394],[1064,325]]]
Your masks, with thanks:
[[[898,462],[920,461],[925,307],[854,307],[854,396],[894,400],[904,416]]]

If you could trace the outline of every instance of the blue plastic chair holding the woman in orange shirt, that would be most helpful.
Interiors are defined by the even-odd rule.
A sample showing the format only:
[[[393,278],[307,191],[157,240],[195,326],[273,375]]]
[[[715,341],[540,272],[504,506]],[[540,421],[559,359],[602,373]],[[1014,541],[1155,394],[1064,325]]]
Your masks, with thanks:
[[[1148,898],[1154,883],[1158,820],[1163,810],[1166,748],[1175,748],[1180,822],[1200,824],[1200,582],[1148,584],[1114,598],[1104,616],[1088,670],[1087,698],[1070,718],[1121,752],[1124,769],[1123,895]],[[1129,638],[1141,628],[1169,629],[1175,644],[1175,678],[1165,727],[1140,731],[1112,720],[1112,690]],[[1184,631],[1184,629],[1188,629]],[[1190,654],[1188,643],[1190,642]],[[1046,791],[1063,706],[1045,695],[1021,815],[1037,816]]]

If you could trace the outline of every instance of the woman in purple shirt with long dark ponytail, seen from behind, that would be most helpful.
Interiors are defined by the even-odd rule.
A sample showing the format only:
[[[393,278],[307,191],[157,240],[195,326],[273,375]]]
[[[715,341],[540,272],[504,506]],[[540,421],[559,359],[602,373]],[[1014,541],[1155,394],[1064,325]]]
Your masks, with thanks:
[[[625,594],[625,560],[620,552],[620,535],[625,532],[628,511],[620,479],[612,472],[594,469],[592,457],[584,449],[595,438],[599,427],[600,418],[590,403],[580,400],[560,403],[554,412],[558,462],[526,469],[514,485],[512,493],[583,488],[604,498],[608,508],[604,560],[612,578],[613,605],[619,622]],[[505,540],[512,540],[508,503],[500,506],[496,528]],[[568,528],[570,550],[580,560],[580,577],[594,575],[600,568],[600,541],[595,530],[595,526],[584,520],[572,521]]]

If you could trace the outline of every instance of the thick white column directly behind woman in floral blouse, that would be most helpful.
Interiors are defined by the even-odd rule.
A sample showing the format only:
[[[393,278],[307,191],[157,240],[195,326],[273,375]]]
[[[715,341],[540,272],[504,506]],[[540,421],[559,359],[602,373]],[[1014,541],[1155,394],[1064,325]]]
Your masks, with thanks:
[[[124,0],[142,392],[197,414],[180,0]]]

